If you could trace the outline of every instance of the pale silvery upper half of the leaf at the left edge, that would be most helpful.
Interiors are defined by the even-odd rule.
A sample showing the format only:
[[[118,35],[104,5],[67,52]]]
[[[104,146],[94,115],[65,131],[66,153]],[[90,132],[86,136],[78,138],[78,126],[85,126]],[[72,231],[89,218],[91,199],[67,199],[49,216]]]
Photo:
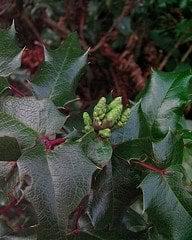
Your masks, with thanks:
[[[47,99],[36,100],[33,97],[2,98],[0,100],[0,110],[3,112],[2,114],[17,119],[38,134],[56,133],[62,128],[66,120],[54,104]]]

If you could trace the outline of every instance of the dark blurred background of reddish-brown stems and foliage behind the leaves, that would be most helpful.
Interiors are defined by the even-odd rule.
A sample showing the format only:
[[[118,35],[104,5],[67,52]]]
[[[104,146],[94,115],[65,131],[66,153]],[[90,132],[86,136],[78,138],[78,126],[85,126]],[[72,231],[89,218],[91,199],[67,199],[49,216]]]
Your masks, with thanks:
[[[15,19],[21,45],[56,48],[70,32],[90,48],[77,94],[83,106],[113,92],[124,103],[152,69],[191,66],[191,0],[1,0],[0,24]],[[26,66],[25,66],[26,67]]]

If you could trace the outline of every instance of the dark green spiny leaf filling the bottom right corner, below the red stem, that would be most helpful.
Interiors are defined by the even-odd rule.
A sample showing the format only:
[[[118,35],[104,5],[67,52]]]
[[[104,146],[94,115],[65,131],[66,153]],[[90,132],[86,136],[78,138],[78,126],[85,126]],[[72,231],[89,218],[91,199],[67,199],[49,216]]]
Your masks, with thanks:
[[[183,184],[176,167],[160,176],[150,173],[141,183],[144,210],[165,239],[192,239],[192,196]]]

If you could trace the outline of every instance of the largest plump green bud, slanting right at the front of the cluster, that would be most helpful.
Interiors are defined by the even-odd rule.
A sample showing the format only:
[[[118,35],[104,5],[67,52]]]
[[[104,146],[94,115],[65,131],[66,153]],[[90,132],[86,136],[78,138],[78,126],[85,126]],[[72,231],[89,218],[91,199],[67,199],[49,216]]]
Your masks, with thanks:
[[[121,113],[123,110],[122,105],[118,105],[116,108],[113,108],[110,112],[105,115],[105,118],[102,122],[103,128],[111,128],[119,121]]]

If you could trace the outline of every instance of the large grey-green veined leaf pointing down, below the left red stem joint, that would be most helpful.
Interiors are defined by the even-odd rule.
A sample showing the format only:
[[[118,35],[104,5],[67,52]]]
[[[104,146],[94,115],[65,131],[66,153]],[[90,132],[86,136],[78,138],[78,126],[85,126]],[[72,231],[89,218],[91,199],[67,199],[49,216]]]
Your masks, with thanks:
[[[38,239],[65,239],[68,216],[89,194],[96,166],[79,143],[64,144],[49,153],[38,143],[25,151],[18,167],[21,179],[31,178],[24,196],[37,214]]]

